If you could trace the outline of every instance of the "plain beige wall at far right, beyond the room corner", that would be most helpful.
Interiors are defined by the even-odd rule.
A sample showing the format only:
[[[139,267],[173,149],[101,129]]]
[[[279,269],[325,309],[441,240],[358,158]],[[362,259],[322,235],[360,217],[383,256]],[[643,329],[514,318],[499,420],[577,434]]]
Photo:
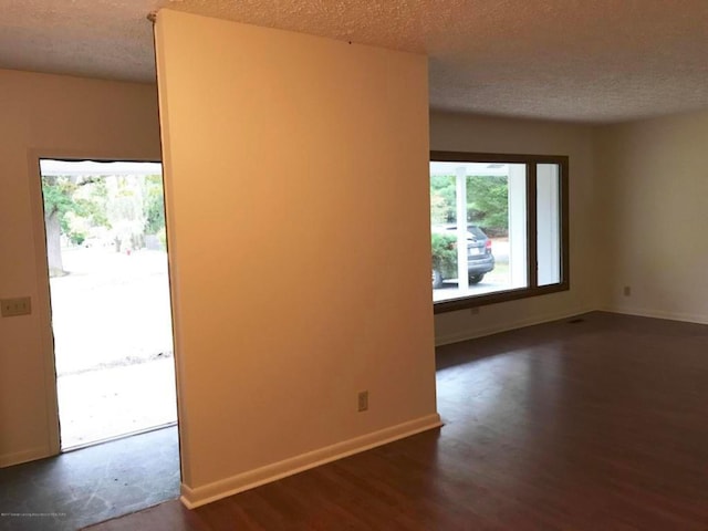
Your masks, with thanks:
[[[604,309],[708,323],[707,138],[708,111],[597,131]]]

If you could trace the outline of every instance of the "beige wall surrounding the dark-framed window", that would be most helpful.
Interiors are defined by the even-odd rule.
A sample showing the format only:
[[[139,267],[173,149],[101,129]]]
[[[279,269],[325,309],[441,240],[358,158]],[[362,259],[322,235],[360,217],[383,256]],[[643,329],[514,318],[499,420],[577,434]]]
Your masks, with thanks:
[[[593,129],[523,119],[431,113],[435,150],[568,155],[570,157],[571,289],[532,299],[491,304],[435,316],[438,344],[476,337],[595,310],[605,279],[595,273],[597,232]]]

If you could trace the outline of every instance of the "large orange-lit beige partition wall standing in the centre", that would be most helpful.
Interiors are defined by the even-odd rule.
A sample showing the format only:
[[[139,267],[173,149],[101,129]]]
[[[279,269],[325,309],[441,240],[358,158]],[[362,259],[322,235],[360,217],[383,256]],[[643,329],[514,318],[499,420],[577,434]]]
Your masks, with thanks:
[[[436,417],[426,58],[169,10],[156,35],[183,492]]]

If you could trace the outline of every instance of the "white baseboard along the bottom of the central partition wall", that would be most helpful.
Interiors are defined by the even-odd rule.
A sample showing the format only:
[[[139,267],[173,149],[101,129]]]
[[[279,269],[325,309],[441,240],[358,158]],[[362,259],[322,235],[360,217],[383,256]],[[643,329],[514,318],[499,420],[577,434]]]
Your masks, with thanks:
[[[343,457],[393,442],[420,431],[438,428],[441,425],[438,414],[427,415],[194,489],[183,483],[180,500],[188,509],[195,509]]]

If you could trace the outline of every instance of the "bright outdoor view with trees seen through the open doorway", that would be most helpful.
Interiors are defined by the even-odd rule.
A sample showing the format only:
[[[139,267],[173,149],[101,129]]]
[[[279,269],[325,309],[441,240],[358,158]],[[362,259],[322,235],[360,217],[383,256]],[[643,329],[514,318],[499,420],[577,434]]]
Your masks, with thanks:
[[[40,170],[61,449],[174,425],[162,165]]]

